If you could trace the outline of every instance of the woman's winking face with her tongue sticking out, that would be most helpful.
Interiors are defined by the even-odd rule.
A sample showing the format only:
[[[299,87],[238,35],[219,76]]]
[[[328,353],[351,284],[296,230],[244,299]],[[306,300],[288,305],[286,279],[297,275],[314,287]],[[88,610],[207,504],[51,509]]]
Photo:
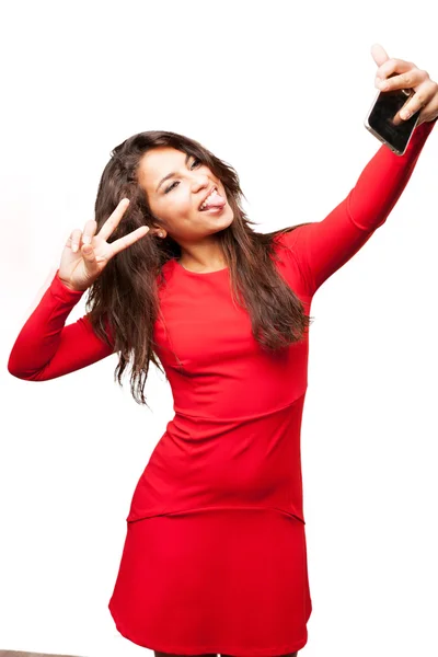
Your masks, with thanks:
[[[230,226],[234,218],[220,180],[197,158],[174,148],[157,147],[145,153],[138,181],[152,212],[163,222],[160,230],[180,244],[199,242]],[[224,205],[218,210],[199,210],[212,187]]]

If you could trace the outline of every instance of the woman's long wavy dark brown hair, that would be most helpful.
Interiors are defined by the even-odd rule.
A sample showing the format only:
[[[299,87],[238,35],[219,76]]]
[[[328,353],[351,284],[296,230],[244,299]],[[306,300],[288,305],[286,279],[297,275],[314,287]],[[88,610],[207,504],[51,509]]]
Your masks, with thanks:
[[[272,351],[302,339],[313,318],[306,314],[301,300],[279,275],[274,264],[278,260],[274,239],[304,224],[270,233],[254,231],[251,224],[255,222],[240,205],[246,197],[238,173],[198,141],[176,132],[149,130],[116,146],[99,184],[94,206],[97,231],[125,197],[129,206],[108,242],[145,224],[166,228],[151,211],[147,193],[138,182],[142,155],[162,146],[198,158],[226,189],[234,218],[217,239],[230,270],[232,299],[247,310],[255,339]],[[114,379],[122,385],[122,374],[132,358],[131,394],[139,404],[148,405],[143,389],[150,360],[165,373],[153,350],[153,327],[160,316],[159,287],[165,283],[161,268],[181,255],[181,246],[171,235],[162,239],[151,231],[113,256],[89,288],[87,312],[94,333],[119,355]]]

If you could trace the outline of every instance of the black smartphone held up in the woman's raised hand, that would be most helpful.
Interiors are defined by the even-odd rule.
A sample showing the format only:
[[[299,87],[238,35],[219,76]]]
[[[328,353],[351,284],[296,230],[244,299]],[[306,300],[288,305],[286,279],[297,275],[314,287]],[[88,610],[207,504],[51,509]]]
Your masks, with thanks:
[[[390,78],[397,74],[393,73]],[[396,155],[403,155],[418,123],[420,110],[407,120],[400,118],[400,111],[414,93],[413,89],[379,92],[364,122],[367,130],[385,143]]]

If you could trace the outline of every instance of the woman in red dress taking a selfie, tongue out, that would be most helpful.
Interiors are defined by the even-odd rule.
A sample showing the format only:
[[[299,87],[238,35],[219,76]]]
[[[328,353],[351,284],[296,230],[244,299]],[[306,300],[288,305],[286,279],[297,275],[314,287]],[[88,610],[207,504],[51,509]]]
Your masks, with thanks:
[[[385,221],[438,116],[426,71],[372,55],[389,88],[415,90],[406,110],[423,107],[403,157],[381,146],[325,219],[262,234],[231,166],[174,132],[135,135],[12,348],[9,371],[33,381],[116,351],[120,382],[131,356],[141,404],[149,361],[164,368],[175,415],[135,489],[110,601],[118,631],[155,656],[291,656],[307,643],[311,301]],[[85,290],[90,312],[66,326]]]

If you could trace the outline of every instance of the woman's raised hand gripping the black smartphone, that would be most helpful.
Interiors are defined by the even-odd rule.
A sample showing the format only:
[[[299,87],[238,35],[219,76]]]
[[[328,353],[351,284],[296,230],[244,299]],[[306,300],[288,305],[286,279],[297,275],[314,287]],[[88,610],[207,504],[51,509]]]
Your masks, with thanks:
[[[438,84],[430,80],[429,73],[417,68],[412,61],[390,59],[379,44],[371,47],[371,55],[379,67],[376,71],[376,87],[379,91],[393,89],[413,89],[415,91],[400,112],[400,118],[406,120],[422,108],[418,115],[418,126],[422,123],[435,120],[438,116]]]

